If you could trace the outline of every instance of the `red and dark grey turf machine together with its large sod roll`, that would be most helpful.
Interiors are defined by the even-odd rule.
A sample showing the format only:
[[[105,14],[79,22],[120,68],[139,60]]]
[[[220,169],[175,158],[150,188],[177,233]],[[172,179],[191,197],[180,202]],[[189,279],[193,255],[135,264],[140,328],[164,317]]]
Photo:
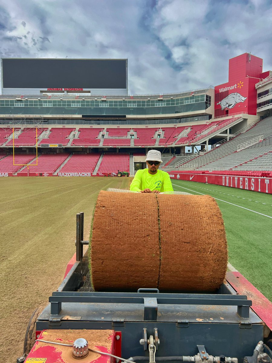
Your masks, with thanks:
[[[272,303],[226,272],[213,198],[101,191],[91,257],[83,222],[78,213],[76,253],[17,362],[272,363]]]

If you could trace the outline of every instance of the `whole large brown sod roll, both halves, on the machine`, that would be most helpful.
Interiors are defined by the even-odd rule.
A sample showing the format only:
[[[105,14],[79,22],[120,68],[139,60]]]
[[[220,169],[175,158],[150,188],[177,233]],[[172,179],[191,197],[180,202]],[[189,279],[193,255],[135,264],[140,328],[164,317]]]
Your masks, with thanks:
[[[101,191],[90,257],[96,291],[214,291],[227,269],[222,215],[207,195]]]

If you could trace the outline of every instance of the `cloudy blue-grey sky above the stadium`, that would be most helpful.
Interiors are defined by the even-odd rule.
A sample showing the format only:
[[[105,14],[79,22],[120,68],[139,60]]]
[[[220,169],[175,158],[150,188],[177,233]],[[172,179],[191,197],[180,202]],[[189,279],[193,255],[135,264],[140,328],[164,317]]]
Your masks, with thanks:
[[[227,82],[245,52],[272,70],[272,0],[0,0],[0,56],[128,58],[130,94]]]

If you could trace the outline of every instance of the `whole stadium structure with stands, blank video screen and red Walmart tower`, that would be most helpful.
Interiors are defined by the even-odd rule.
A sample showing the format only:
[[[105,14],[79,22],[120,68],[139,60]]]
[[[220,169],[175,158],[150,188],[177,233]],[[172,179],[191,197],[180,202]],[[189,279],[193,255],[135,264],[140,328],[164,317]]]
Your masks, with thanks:
[[[272,176],[261,58],[231,58],[226,83],[180,93],[128,95],[127,70],[127,59],[2,58],[0,174],[133,176],[156,148],[166,171]]]

